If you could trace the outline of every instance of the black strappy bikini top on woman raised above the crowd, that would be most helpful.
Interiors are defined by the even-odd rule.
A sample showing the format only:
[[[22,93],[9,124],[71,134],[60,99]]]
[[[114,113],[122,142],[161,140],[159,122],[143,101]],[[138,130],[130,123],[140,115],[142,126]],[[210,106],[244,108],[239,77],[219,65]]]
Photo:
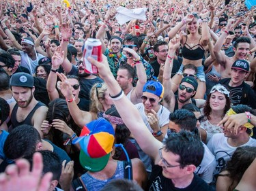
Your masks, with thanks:
[[[188,36],[186,36],[186,41],[187,41],[187,39],[188,39]],[[185,42],[184,46],[182,47],[183,58],[186,58],[188,60],[200,60],[203,58],[205,50],[201,46],[200,40],[201,40],[201,38],[199,39],[198,44],[196,44],[193,47],[190,47]],[[198,48],[195,48],[196,46],[198,46]],[[193,49],[193,48],[195,48],[195,49]]]

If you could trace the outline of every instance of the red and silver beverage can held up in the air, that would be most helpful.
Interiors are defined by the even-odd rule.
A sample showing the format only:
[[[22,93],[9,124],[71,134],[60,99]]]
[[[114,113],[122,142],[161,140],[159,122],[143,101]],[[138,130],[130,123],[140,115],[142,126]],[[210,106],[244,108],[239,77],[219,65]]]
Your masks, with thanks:
[[[95,60],[98,60],[98,62],[102,61],[101,41],[99,39],[87,39],[85,41],[85,48],[83,50],[83,66],[85,67],[85,72],[98,73],[98,68],[91,65],[89,60],[87,60],[89,56]]]

